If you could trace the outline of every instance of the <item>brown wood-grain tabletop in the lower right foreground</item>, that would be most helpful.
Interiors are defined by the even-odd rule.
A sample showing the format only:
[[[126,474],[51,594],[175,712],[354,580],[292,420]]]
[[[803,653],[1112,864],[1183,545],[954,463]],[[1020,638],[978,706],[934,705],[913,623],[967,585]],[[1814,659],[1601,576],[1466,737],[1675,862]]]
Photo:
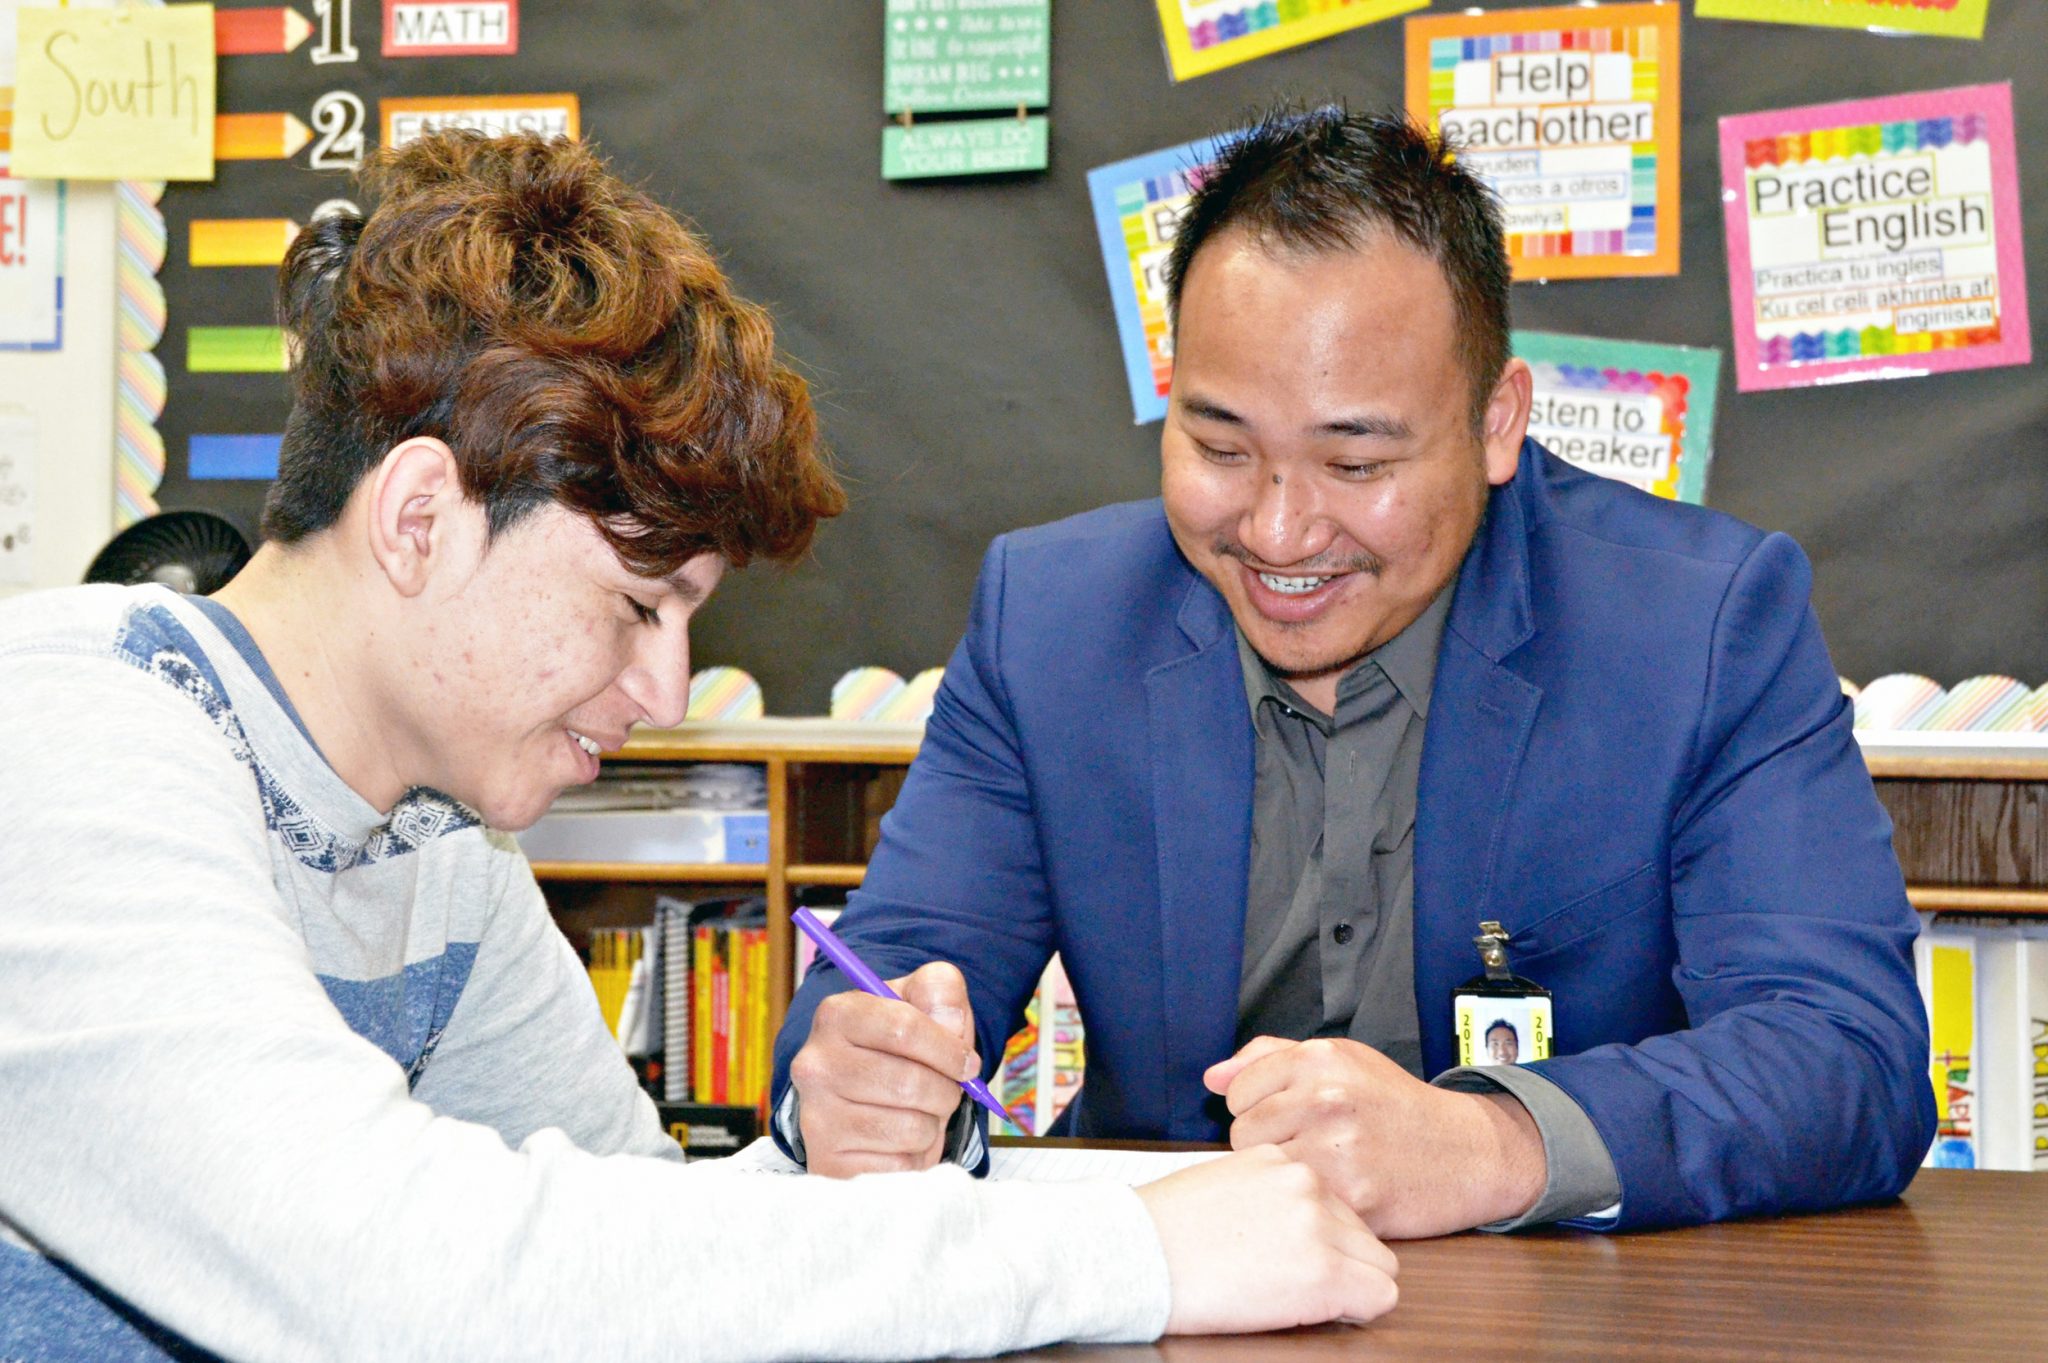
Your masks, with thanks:
[[[1012,1357],[2048,1359],[2048,1175],[1929,1169],[1849,1212],[1395,1248],[1401,1306],[1370,1326]]]

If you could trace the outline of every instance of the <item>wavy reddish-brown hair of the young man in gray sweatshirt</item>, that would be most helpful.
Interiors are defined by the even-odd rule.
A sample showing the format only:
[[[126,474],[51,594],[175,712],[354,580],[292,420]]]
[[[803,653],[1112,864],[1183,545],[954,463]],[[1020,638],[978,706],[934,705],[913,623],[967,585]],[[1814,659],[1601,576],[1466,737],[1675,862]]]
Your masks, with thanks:
[[[436,133],[360,180],[367,219],[322,217],[285,254],[268,538],[334,526],[414,436],[449,444],[489,534],[559,501],[647,577],[797,559],[846,508],[768,313],[590,145]]]

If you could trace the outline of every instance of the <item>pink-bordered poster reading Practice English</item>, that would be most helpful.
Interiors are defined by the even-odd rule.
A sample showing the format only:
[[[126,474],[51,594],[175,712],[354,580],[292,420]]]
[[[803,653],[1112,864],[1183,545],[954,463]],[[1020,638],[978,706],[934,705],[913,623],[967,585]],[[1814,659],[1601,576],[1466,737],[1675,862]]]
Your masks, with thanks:
[[[1720,121],[1743,391],[2025,364],[2009,84]]]

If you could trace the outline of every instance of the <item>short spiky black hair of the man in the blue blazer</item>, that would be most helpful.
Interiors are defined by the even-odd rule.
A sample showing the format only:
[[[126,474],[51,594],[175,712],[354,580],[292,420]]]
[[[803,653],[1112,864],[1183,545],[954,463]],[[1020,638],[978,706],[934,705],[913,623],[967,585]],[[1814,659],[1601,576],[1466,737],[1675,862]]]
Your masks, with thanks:
[[[1237,227],[1270,250],[1327,252],[1372,233],[1436,260],[1458,311],[1458,358],[1473,383],[1473,428],[1507,364],[1511,266],[1501,209],[1479,176],[1407,115],[1337,106],[1274,108],[1225,141],[1180,217],[1165,291],[1174,315],[1202,246]]]

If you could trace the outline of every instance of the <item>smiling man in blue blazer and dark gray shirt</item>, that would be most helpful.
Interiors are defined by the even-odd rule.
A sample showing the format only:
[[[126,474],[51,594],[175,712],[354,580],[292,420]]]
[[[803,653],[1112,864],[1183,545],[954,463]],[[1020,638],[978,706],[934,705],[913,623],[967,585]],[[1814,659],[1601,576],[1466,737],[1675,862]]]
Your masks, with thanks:
[[[1915,919],[1808,565],[1528,440],[1507,278],[1401,119],[1225,153],[1169,270],[1163,497],[995,542],[840,921],[907,1003],[827,966],[791,1007],[813,1171],[977,1162],[956,1081],[1057,950],[1071,1130],[1278,1144],[1386,1236],[1905,1187]],[[1458,1066],[1481,923],[1554,1058]]]

